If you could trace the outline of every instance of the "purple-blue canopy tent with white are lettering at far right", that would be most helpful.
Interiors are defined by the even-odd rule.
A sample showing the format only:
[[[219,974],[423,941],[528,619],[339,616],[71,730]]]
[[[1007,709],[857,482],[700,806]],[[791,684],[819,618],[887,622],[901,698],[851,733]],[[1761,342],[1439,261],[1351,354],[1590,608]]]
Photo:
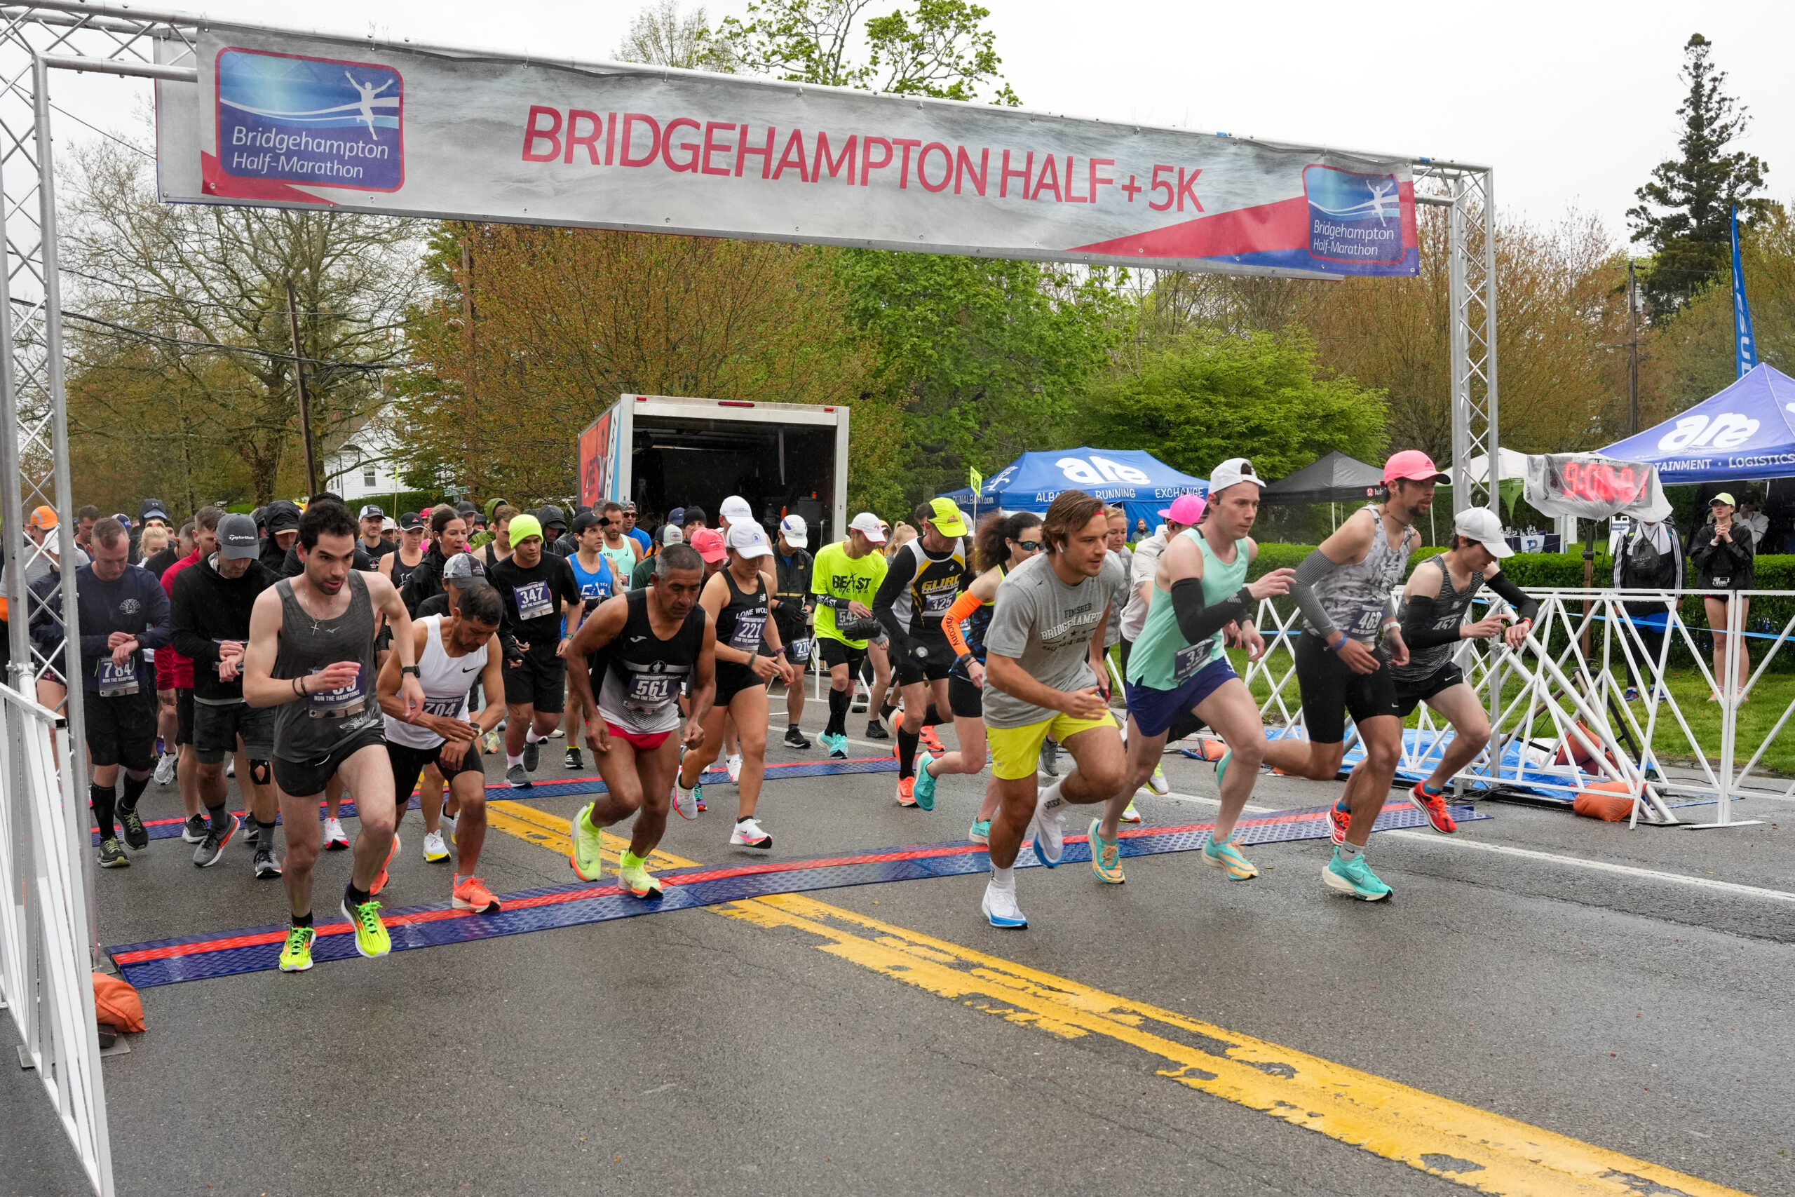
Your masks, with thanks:
[[[1795,379],[1770,364],[1752,366],[1712,398],[1601,452],[1659,467],[1659,481],[1666,486],[1790,477],[1795,474]]]

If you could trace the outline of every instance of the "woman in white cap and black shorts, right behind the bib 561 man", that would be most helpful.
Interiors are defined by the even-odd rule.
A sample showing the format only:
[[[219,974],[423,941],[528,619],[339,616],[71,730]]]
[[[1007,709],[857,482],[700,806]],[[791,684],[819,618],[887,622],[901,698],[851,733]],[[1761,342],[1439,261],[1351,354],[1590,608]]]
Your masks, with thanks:
[[[736,775],[736,826],[729,842],[736,847],[770,849],[774,838],[754,818],[761,779],[766,775],[766,682],[777,677],[793,686],[795,675],[784,660],[779,628],[772,623],[772,594],[761,571],[761,558],[774,551],[766,531],[749,520],[736,522],[729,526],[725,544],[729,565],[711,574],[698,596],[698,605],[711,616],[714,628],[716,696],[704,716],[704,743],[680,759],[673,809],[686,818],[704,809],[704,799],[696,793],[698,779],[716,759],[723,745],[723,718],[731,716],[741,743],[741,772]],[[774,655],[761,655],[761,644]]]

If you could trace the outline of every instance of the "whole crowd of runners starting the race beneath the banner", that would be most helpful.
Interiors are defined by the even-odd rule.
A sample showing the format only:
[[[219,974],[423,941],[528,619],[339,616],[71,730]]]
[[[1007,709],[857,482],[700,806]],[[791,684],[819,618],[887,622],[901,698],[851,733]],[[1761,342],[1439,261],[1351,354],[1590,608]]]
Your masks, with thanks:
[[[1079,490],[976,528],[950,499],[896,528],[863,511],[815,553],[804,519],[763,524],[740,497],[714,526],[684,508],[653,537],[617,502],[571,522],[555,504],[503,499],[393,519],[328,494],[248,515],[208,506],[180,526],[154,499],[136,520],[83,508],[72,540],[99,865],[127,867],[149,847],[140,800],[153,781],[172,784],[197,867],[242,834],[253,874],[284,881],[282,969],[311,967],[312,874],[327,851],[352,852],[337,910],[357,951],[379,957],[391,949],[381,896],[413,791],[422,854],[452,860],[452,906],[497,912],[477,876],[485,756],[503,752],[504,782],[530,790],[542,745],[564,738],[565,768],[585,768],[583,747],[605,782],[573,820],[573,870],[600,881],[601,831],[628,824],[617,883],[652,899],[648,858],[668,811],[705,811],[702,779],[720,757],[736,788],[729,843],[772,847],[757,815],[770,687],[784,689],[783,743],[817,750],[801,727],[802,675],[815,668],[829,684],[820,752],[847,757],[849,720],[865,711],[865,736],[892,741],[899,806],[932,811],[942,777],[989,761],[968,836],[989,852],[993,926],[1027,926],[1016,860],[1059,865],[1068,831],[1088,834],[1095,879],[1120,885],[1120,824],[1140,822],[1138,793],[1169,793],[1161,756],[1199,729],[1224,747],[1203,860],[1235,881],[1258,876],[1235,826],[1260,770],[1337,777],[1348,718],[1364,752],[1330,811],[1321,878],[1379,901],[1389,887],[1366,843],[1404,718],[1425,702],[1454,729],[1407,795],[1450,834],[1445,786],[1490,738],[1454,644],[1519,644],[1535,614],[1499,569],[1510,547],[1486,510],[1459,513],[1452,546],[1409,572],[1414,520],[1441,481],[1425,454],[1395,454],[1380,501],[1300,567],[1253,581],[1262,483],[1246,458],[1215,467],[1206,497],[1181,495],[1133,546],[1124,511]],[[50,662],[38,698],[56,707],[66,695],[56,511],[38,508],[29,524],[41,551],[27,555],[27,583],[47,599],[31,637]],[[1472,619],[1483,589],[1504,614]],[[1307,738],[1267,738],[1226,651],[1265,653],[1255,614],[1276,596],[1301,608],[1292,651]],[[951,748],[937,727],[951,727]],[[226,777],[246,818],[228,809]],[[1072,806],[1086,824],[1068,822]]]

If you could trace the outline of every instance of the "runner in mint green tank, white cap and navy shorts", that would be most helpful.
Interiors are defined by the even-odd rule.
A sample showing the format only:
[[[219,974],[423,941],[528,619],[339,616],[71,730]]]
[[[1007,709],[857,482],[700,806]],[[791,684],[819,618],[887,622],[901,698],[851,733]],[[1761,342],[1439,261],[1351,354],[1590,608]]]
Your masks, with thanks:
[[[1265,641],[1253,626],[1253,612],[1260,599],[1291,590],[1291,569],[1274,569],[1246,585],[1248,565],[1258,553],[1248,537],[1258,515],[1258,488],[1251,461],[1222,461],[1210,477],[1210,499],[1197,526],[1174,537],[1160,555],[1147,623],[1127,659],[1127,777],[1090,829],[1091,869],[1100,881],[1122,881],[1116,842],[1122,809],[1152,775],[1167,736],[1181,739],[1204,723],[1221,734],[1228,756],[1215,768],[1222,809],[1203,860],[1235,881],[1258,876],[1231,840],[1258,779],[1265,727],[1222,650],[1224,630],[1239,625],[1239,642],[1256,660]]]

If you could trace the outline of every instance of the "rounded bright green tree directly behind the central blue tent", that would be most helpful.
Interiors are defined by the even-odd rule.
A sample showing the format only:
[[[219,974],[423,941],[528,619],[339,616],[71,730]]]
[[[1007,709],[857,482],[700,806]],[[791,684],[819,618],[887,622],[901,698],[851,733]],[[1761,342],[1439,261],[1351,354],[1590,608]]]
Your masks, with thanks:
[[[1145,449],[1199,477],[1249,452],[1283,477],[1335,449],[1382,461],[1384,420],[1382,391],[1323,370],[1300,328],[1197,330],[1093,388],[1081,440]]]

